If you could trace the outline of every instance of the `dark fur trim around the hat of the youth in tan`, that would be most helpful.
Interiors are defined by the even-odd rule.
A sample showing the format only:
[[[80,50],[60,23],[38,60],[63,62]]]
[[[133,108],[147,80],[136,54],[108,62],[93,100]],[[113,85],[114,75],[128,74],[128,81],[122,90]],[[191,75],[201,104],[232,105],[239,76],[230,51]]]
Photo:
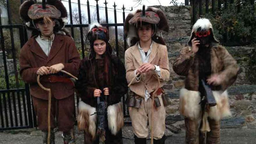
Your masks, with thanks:
[[[129,20],[134,17],[134,15],[136,13],[140,13],[142,11],[142,9],[138,9],[136,11],[133,11],[131,13],[129,13],[125,19],[125,36],[127,38],[127,43],[129,46],[133,46],[136,44],[136,42],[138,42],[139,38],[137,35],[137,31],[136,31],[136,26],[134,24],[129,24]],[[162,10],[158,9],[158,8],[152,8],[152,7],[147,7],[145,8],[145,11],[153,11],[154,13],[156,13],[159,18],[160,21],[158,24],[156,24],[157,29],[154,32],[155,35],[152,37],[152,40],[154,40],[157,43],[160,43],[162,45],[166,45],[163,37],[162,37],[162,32],[168,32],[169,31],[169,25],[168,25],[168,21],[167,18],[165,16],[165,14],[163,13]]]

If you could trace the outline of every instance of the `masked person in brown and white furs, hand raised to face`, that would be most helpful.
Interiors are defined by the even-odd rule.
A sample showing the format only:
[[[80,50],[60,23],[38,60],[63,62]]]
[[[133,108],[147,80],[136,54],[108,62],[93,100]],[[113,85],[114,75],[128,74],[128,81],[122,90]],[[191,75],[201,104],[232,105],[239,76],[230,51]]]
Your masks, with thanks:
[[[205,137],[207,144],[220,144],[220,120],[230,115],[226,89],[236,80],[239,67],[214,38],[208,19],[194,24],[189,46],[181,49],[173,70],[186,76],[179,105],[185,117],[186,144],[202,144]],[[210,88],[207,92],[204,83]],[[212,93],[215,106],[206,102],[206,93]]]

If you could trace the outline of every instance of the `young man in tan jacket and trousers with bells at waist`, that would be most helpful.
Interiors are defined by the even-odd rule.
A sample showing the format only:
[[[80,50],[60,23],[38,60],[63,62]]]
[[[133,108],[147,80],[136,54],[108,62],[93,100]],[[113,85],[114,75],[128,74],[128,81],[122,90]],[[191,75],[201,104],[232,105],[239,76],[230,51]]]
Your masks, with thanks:
[[[170,77],[167,47],[160,31],[169,26],[163,12],[156,8],[137,10],[125,20],[125,34],[131,47],[125,51],[126,79],[131,83],[127,99],[134,129],[135,144],[145,144],[148,136],[147,122],[151,127],[154,115],[154,144],[165,143],[165,117],[162,89]],[[134,80],[133,78],[136,77]],[[158,84],[160,79],[160,86]],[[160,88],[159,88],[160,87]],[[152,107],[152,93],[157,90]],[[134,101],[134,99],[136,99]],[[153,109],[153,113],[152,113]]]

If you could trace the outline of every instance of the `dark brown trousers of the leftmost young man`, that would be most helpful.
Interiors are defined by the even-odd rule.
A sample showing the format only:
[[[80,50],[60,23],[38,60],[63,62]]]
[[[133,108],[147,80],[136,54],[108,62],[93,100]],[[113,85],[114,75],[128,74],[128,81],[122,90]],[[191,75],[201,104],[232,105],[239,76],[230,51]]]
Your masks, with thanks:
[[[33,106],[37,116],[38,127],[47,131],[48,100],[32,96]],[[64,99],[51,98],[51,128],[58,126],[59,131],[68,132],[74,125],[74,95]]]

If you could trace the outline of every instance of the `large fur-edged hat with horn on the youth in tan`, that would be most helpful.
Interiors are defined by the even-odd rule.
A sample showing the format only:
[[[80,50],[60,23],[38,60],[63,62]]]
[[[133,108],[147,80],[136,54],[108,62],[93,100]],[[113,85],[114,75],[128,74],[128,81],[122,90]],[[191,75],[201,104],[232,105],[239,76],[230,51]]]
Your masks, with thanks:
[[[139,40],[137,34],[138,22],[154,24],[154,35],[152,36],[152,40],[162,45],[166,45],[163,40],[162,31],[168,32],[169,25],[162,10],[152,7],[145,9],[145,5],[143,5],[142,10],[138,9],[135,13],[129,13],[127,15],[125,19],[125,35],[129,46],[135,45]]]

